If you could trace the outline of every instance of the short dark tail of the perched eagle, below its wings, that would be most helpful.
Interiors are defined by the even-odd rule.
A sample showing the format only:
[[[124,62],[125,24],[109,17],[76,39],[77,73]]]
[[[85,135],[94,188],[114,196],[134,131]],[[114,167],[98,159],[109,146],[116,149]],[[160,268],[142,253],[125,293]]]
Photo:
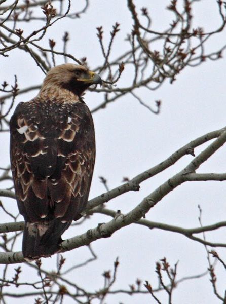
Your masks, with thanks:
[[[48,257],[60,251],[61,235],[70,222],[62,223],[58,218],[43,223],[25,222],[22,252],[25,259]]]

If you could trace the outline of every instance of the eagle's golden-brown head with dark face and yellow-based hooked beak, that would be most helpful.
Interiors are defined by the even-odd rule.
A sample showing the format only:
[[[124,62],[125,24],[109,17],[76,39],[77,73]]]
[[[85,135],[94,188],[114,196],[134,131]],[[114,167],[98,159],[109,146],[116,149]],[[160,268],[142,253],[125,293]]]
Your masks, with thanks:
[[[102,84],[100,76],[89,71],[85,66],[65,63],[49,70],[41,91],[56,87],[66,89],[77,96],[91,85]]]

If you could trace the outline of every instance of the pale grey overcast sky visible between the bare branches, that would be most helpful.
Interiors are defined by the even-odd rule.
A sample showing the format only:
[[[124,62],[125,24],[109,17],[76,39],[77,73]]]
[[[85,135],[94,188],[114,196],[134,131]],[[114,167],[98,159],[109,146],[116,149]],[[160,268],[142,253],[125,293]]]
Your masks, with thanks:
[[[81,1],[81,3],[83,3]],[[166,28],[171,21],[171,14],[165,10],[168,1],[165,0],[139,0],[135,2],[138,8],[148,7],[153,19],[153,28],[159,31]],[[217,11],[215,1],[204,0],[204,5],[196,3],[197,24],[206,30],[213,29],[219,24],[216,18]],[[62,20],[55,27],[49,29],[46,40],[60,38],[65,30],[70,31],[71,41],[69,52],[75,57],[86,56],[91,68],[99,66],[102,62],[101,50],[96,38],[96,27],[103,25],[106,41],[109,41],[109,30],[115,22],[120,23],[121,31],[115,41],[114,59],[124,50],[128,50],[124,38],[131,29],[131,18],[126,7],[126,1],[114,0],[91,1],[87,14],[81,19]],[[197,25],[197,24],[194,24]],[[29,27],[24,27],[25,33],[29,33]],[[213,39],[208,48],[211,50],[222,46],[225,41],[225,33],[219,34]],[[115,56],[115,57],[114,57]],[[58,58],[58,64],[63,63]],[[41,70],[37,69],[32,59],[27,54],[17,51],[10,54],[9,58],[1,58],[1,82],[7,80],[13,82],[13,75],[18,75],[19,87],[39,84],[44,78]],[[158,164],[170,156],[175,150],[207,132],[222,128],[225,120],[225,59],[207,61],[196,68],[186,68],[182,71],[173,85],[168,81],[157,91],[139,90],[140,96],[150,105],[154,106],[155,100],[162,100],[160,115],[150,113],[142,107],[132,96],[127,95],[115,103],[111,103],[104,110],[96,112],[93,116],[96,132],[97,157],[93,176],[90,198],[100,195],[105,191],[99,182],[99,176],[104,176],[108,186],[114,188],[121,184],[122,178],[129,178]],[[124,84],[130,77],[125,72],[118,85]],[[27,100],[34,97],[36,92],[23,95]],[[90,109],[102,101],[102,97],[96,93],[87,93],[85,100]],[[18,96],[17,102],[26,101]],[[3,137],[2,137],[3,138]],[[4,146],[0,167],[9,164],[8,134],[4,135]],[[226,171],[226,147],[222,147],[198,172],[225,172]],[[201,149],[197,149],[197,152]],[[196,151],[195,151],[196,152]],[[130,211],[144,196],[147,196],[157,186],[165,182],[170,176],[181,170],[192,160],[187,155],[172,168],[159,174],[155,178],[141,184],[141,189],[136,193],[127,193],[107,203],[109,209],[122,213]],[[2,185],[3,187],[3,185]],[[183,184],[171,192],[155,208],[151,209],[146,218],[152,221],[160,221],[182,227],[198,227],[198,204],[203,209],[203,224],[212,224],[225,220],[225,182],[190,182]],[[12,200],[2,199],[3,202],[15,205]],[[5,222],[5,215],[1,217]],[[22,217],[20,218],[22,220]],[[99,222],[108,221],[105,216],[94,215],[92,220],[84,225],[69,229],[63,238],[79,235]],[[224,233],[223,233],[224,232]],[[225,230],[222,233],[208,233],[209,240],[225,242]],[[153,287],[157,287],[155,262],[164,256],[171,265],[178,263],[178,277],[191,276],[204,272],[207,267],[205,248],[183,236],[158,230],[150,231],[145,227],[130,225],[116,232],[111,238],[98,240],[93,243],[93,249],[98,255],[98,260],[87,267],[73,272],[74,281],[87,289],[98,290],[102,285],[103,270],[113,268],[116,257],[119,257],[120,266],[118,280],[115,289],[127,289],[128,284],[135,283],[136,278],[148,280]],[[21,244],[18,242],[17,250]],[[222,258],[225,257],[225,249],[217,249]],[[79,248],[65,253],[67,258],[65,268],[70,262],[84,261],[89,256],[87,248]],[[44,265],[54,262],[55,257],[43,259]],[[24,267],[23,267],[24,268]],[[14,267],[12,266],[12,271]],[[218,287],[221,294],[225,289],[225,272],[216,268]],[[219,272],[218,272],[219,271]],[[22,273],[23,279],[27,274]],[[71,278],[71,277],[70,277]],[[167,297],[162,292],[162,303]],[[119,302],[124,304],[154,303],[148,295],[126,296],[116,295],[106,299],[107,304]],[[17,300],[19,303],[20,301]],[[70,299],[65,303],[72,303]],[[8,299],[8,303],[15,303],[15,299]],[[29,299],[24,303],[30,303]],[[173,293],[174,304],[217,304],[219,300],[213,295],[209,276],[199,280],[181,283]],[[95,304],[95,303],[94,303]]]

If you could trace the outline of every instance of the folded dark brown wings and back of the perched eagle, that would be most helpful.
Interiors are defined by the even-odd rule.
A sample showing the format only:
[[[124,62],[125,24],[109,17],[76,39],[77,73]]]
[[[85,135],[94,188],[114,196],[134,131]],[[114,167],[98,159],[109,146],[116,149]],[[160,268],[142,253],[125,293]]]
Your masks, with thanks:
[[[94,128],[87,106],[36,99],[20,103],[10,132],[12,174],[25,220],[79,218],[95,161]]]

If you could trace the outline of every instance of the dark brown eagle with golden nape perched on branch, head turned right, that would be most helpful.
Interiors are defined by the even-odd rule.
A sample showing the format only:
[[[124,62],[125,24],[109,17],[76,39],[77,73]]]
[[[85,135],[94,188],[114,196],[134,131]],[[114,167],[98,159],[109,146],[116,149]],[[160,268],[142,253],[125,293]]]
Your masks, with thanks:
[[[10,160],[27,260],[61,250],[61,235],[85,209],[95,163],[91,112],[81,97],[100,76],[77,64],[46,74],[39,94],[10,119]]]

